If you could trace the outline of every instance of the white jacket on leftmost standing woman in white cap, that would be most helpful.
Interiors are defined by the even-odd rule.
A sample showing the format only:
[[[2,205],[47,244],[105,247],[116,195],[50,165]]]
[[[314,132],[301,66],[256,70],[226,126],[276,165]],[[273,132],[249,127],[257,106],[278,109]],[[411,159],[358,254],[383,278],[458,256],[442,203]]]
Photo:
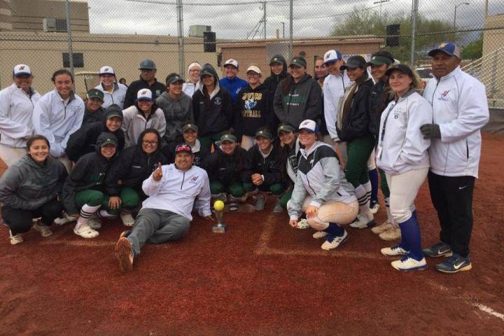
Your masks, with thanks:
[[[0,91],[0,144],[26,147],[26,138],[33,135],[34,106],[40,94],[31,89],[31,96],[13,83]]]

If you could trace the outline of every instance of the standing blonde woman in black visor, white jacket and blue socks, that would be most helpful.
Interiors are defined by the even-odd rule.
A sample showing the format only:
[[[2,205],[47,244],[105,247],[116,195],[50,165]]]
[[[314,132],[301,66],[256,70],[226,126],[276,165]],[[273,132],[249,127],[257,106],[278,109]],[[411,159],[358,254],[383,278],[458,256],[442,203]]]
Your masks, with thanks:
[[[416,93],[419,80],[409,66],[398,64],[385,74],[395,100],[381,113],[376,157],[391,190],[390,211],[395,223],[399,223],[401,242],[382,248],[381,253],[404,255],[392,262],[392,267],[400,271],[426,269],[414,200],[430,166],[427,151],[430,140],[423,139],[420,126],[432,123],[433,110]]]

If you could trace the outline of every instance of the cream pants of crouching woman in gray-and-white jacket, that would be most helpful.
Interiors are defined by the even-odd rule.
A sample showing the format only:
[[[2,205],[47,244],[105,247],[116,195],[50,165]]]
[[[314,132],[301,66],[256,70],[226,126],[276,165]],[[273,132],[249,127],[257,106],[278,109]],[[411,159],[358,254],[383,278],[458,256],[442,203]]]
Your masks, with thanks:
[[[304,199],[302,211],[305,211],[311,203],[311,196]],[[287,209],[289,208],[290,201],[287,202]],[[318,213],[315,217],[307,218],[308,224],[311,228],[321,231],[328,228],[329,223],[339,225],[350,224],[358,214],[358,202],[354,201],[350,204],[343,202],[328,202],[318,208]]]

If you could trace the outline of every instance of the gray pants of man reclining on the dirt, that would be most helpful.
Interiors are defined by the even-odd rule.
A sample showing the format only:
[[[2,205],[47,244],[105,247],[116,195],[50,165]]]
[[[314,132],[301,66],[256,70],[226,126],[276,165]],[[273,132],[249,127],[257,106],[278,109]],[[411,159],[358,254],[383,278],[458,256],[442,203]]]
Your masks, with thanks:
[[[153,244],[182,239],[189,231],[188,218],[168,210],[141,209],[127,239],[133,246],[134,255],[146,241]]]

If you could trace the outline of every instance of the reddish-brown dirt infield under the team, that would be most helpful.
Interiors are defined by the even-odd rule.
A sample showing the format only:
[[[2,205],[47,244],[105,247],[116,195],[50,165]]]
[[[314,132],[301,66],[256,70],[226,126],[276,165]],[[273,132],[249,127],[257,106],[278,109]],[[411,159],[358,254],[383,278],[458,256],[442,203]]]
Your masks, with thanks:
[[[370,230],[323,251],[272,199],[225,214],[225,235],[197,219],[183,241],[145,246],[130,274],[113,257],[118,221],[97,239],[53,225],[16,246],[1,225],[0,335],[503,335],[504,136],[483,139],[470,272],[440,274],[433,259],[395,271]],[[427,186],[416,207],[427,246],[438,235]]]

